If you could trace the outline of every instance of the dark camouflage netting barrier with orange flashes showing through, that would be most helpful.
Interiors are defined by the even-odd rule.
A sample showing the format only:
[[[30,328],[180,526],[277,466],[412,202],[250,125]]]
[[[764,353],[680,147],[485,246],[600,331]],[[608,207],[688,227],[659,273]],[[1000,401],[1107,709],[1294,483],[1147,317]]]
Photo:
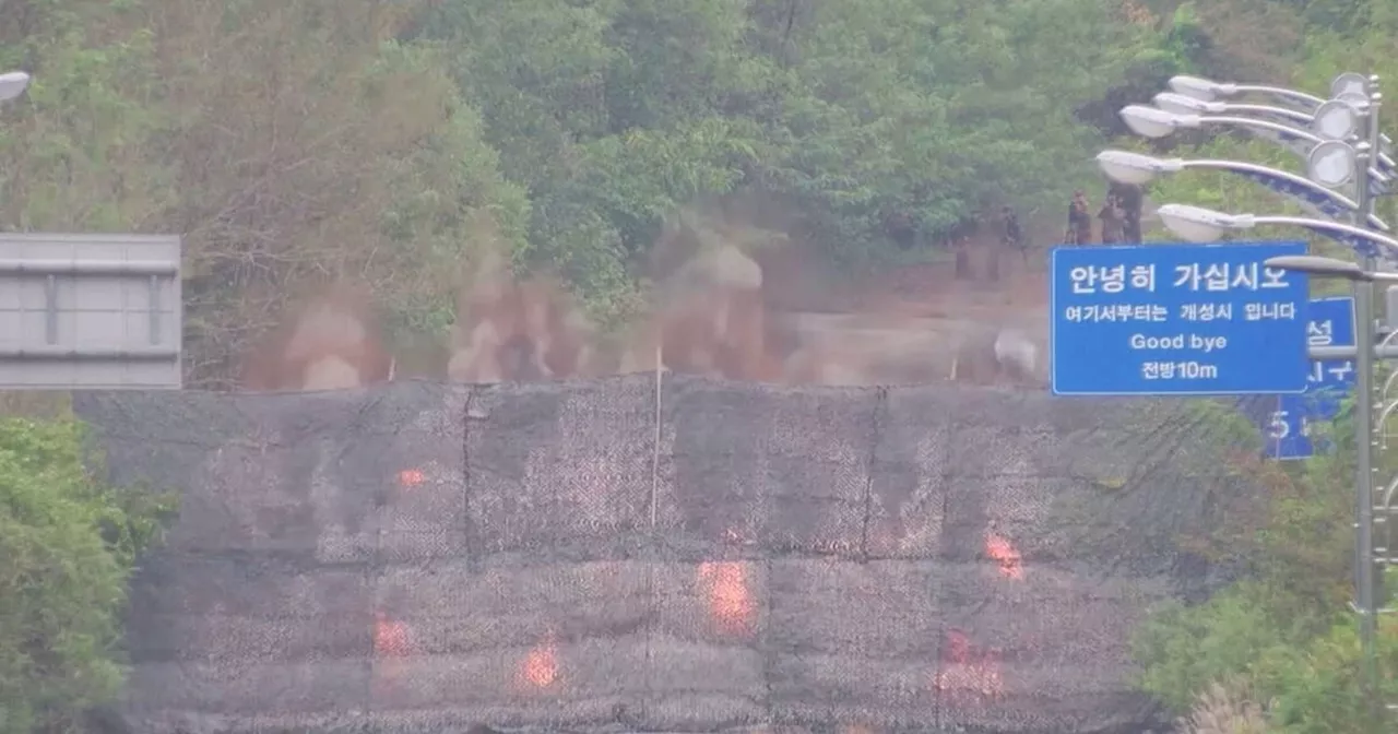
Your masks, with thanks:
[[[183,491],[134,587],[152,734],[1142,731],[1128,633],[1248,491],[1184,403],[953,384],[75,403]]]

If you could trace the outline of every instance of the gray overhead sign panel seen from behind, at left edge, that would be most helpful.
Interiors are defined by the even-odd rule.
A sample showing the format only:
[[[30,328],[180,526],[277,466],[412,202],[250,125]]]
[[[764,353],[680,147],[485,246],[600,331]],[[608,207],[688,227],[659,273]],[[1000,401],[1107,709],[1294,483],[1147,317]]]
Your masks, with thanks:
[[[180,240],[0,233],[0,390],[179,389]]]

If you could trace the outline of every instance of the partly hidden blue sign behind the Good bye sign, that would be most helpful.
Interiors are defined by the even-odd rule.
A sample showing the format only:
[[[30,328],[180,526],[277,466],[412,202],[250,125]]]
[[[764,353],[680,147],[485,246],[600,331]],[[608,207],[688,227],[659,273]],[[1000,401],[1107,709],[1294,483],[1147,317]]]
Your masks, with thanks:
[[[1355,345],[1355,299],[1317,298],[1310,302],[1306,341],[1311,347]],[[1314,359],[1307,389],[1299,396],[1278,396],[1276,410],[1262,432],[1272,459],[1307,459],[1328,450],[1324,439],[1311,436],[1311,425],[1339,415],[1341,401],[1355,390],[1353,359]]]

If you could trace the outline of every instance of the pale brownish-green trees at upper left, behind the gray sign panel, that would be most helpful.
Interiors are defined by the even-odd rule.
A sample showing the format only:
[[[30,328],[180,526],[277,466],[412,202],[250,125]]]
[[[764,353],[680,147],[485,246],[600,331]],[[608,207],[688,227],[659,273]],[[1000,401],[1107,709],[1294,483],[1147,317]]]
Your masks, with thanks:
[[[400,43],[421,1],[20,0],[0,60],[0,215],[22,229],[178,232],[187,382],[231,384],[288,296],[368,282],[417,329],[450,322],[477,247],[523,242],[445,50]]]

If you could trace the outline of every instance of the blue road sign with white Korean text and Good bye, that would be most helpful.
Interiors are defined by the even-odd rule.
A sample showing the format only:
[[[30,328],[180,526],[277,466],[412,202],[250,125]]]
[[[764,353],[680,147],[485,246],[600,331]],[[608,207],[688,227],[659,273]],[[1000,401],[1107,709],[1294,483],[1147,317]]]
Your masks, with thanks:
[[[1054,247],[1058,396],[1306,390],[1309,281],[1262,266],[1304,242]]]

